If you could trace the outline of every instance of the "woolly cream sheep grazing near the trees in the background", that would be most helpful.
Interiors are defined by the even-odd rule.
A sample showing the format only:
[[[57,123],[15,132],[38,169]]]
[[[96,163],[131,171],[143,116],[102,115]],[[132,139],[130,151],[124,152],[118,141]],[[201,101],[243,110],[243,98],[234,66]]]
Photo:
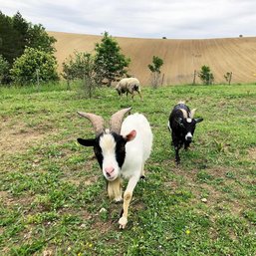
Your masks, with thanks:
[[[123,96],[123,94],[127,93],[131,95],[131,99],[133,100],[134,92],[137,92],[137,94],[140,97],[140,100],[142,100],[141,94],[140,94],[140,85],[139,81],[136,78],[125,78],[122,79],[119,84],[116,86],[116,90],[118,91],[120,96]]]

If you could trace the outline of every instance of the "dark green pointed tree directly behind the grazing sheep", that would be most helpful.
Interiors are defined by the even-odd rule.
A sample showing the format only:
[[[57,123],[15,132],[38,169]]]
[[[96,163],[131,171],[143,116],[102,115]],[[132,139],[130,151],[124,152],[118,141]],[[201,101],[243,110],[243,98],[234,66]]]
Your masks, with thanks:
[[[104,33],[102,42],[96,44],[95,51],[95,72],[98,83],[102,84],[107,80],[107,85],[110,87],[113,81],[128,73],[126,68],[130,60],[121,53],[119,43],[108,32]]]

